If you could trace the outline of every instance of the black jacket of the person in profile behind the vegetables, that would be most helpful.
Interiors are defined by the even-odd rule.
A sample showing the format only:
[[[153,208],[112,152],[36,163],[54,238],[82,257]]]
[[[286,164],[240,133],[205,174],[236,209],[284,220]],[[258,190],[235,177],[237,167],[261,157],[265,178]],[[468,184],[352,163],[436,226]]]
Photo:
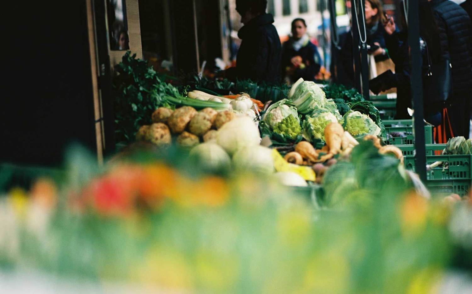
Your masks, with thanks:
[[[242,42],[237,54],[236,70],[229,78],[280,82],[282,49],[273,22],[271,14],[264,14],[255,17],[239,30],[238,37]]]

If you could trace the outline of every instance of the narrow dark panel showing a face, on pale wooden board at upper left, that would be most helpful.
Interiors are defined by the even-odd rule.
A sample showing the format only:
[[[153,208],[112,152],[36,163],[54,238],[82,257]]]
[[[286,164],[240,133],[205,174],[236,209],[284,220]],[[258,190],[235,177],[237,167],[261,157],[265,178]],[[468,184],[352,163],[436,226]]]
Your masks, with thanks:
[[[108,30],[111,50],[128,50],[128,23],[125,0],[107,0]]]

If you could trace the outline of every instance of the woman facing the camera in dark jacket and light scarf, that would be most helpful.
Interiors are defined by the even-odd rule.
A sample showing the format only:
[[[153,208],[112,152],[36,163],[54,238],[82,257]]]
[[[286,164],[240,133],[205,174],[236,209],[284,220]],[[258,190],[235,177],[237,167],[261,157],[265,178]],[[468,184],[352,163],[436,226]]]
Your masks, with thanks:
[[[306,33],[305,20],[294,19],[292,36],[282,46],[282,72],[286,81],[294,83],[300,78],[314,81],[320,64],[320,53]]]

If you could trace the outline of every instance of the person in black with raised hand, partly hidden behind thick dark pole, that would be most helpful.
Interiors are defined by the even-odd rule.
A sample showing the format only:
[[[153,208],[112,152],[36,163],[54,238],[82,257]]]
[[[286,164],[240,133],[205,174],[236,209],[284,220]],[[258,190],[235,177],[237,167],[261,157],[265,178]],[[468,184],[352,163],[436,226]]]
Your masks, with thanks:
[[[411,82],[410,82],[410,53],[408,47],[408,30],[405,20],[405,11],[403,5],[400,5],[402,12],[401,32],[396,30],[396,25],[390,17],[384,23],[385,40],[390,58],[395,64],[395,73],[388,70],[378,77],[371,79],[369,86],[374,94],[396,87],[396,116],[395,119],[411,119],[408,114],[408,108],[412,108]],[[420,44],[423,62],[423,76],[428,71],[428,56],[426,44],[432,64],[438,63],[442,57],[440,40],[438,37],[438,26],[434,20],[433,12],[427,0],[419,1],[419,19],[420,19]],[[423,85],[425,86],[425,85]],[[434,126],[441,123],[442,108],[437,108],[431,97],[424,96],[424,117],[427,122]]]

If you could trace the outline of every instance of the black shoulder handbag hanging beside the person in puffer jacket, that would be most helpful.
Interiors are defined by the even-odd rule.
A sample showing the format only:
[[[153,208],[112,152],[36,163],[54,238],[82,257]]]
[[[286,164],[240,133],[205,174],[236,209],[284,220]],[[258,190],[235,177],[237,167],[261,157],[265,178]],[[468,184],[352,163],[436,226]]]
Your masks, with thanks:
[[[434,113],[447,107],[447,98],[452,92],[452,72],[449,60],[431,61],[428,44],[424,42],[428,67],[423,74],[423,97],[425,111]]]

